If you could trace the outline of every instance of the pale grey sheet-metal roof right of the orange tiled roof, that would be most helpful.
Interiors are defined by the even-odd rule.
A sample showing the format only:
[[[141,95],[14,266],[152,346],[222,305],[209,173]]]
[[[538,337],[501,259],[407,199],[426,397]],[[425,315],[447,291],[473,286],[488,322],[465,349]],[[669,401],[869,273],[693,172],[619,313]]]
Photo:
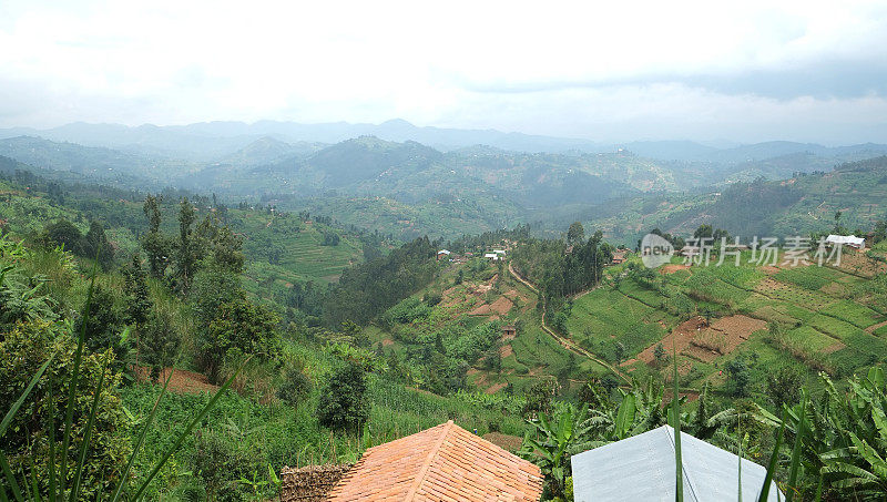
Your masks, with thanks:
[[[681,458],[685,501],[738,500],[738,457],[682,432]],[[571,461],[575,502],[674,501],[674,429],[669,426],[575,454]],[[742,499],[757,500],[765,478],[766,469],[742,459]],[[771,483],[767,501],[775,502],[778,489]]]

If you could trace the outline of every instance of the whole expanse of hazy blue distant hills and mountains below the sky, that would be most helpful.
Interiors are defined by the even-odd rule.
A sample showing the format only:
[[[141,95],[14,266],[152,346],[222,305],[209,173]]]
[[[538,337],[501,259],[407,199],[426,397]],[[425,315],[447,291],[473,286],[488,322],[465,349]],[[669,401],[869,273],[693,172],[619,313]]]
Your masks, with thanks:
[[[0,155],[44,176],[308,207],[407,235],[458,235],[528,221],[557,227],[581,215],[623,211],[610,201],[713,193],[735,182],[827,172],[885,153],[887,145],[871,143],[603,145],[405,121],[0,130]]]

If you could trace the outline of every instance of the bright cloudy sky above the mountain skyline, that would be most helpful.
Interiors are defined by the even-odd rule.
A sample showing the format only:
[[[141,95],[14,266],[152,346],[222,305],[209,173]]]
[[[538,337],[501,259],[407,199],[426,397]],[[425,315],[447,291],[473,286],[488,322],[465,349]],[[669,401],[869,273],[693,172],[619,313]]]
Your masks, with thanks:
[[[0,0],[0,127],[394,117],[887,143],[887,2]]]

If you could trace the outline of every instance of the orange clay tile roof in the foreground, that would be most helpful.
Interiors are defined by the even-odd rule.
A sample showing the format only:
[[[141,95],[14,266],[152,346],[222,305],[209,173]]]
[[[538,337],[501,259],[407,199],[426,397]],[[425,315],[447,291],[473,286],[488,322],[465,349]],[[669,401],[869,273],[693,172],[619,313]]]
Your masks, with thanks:
[[[370,448],[329,501],[538,501],[539,467],[452,420]]]

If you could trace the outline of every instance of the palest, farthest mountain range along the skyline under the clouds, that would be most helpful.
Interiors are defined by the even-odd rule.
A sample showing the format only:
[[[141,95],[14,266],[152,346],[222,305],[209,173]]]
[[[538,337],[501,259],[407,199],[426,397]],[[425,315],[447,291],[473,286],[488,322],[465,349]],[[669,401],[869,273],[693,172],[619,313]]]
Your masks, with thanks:
[[[612,153],[624,148],[638,155],[661,161],[746,162],[805,152],[820,156],[840,156],[855,152],[874,152],[875,154],[887,152],[887,145],[874,143],[838,147],[782,141],[751,145],[693,141],[636,141],[612,144],[583,139],[506,133],[496,130],[421,127],[404,120],[391,120],[381,124],[346,122],[300,124],[259,121],[253,124],[202,122],[166,126],[144,124],[135,127],[121,124],[77,122],[47,130],[28,127],[0,130],[0,139],[22,135],[203,162],[218,160],[266,136],[287,144],[299,145],[297,147],[303,150],[309,148],[310,144],[334,144],[358,136],[373,135],[394,142],[415,141],[445,152],[479,144],[507,151],[536,153]]]

